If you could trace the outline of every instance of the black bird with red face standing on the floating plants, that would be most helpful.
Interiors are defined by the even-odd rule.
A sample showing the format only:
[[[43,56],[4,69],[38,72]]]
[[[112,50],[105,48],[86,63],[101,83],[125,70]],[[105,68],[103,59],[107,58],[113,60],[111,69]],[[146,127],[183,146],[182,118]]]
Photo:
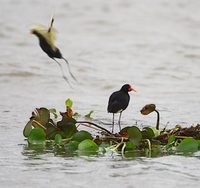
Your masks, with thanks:
[[[108,101],[108,107],[107,110],[109,113],[113,113],[113,122],[112,122],[112,133],[114,130],[114,115],[115,113],[120,113],[119,114],[119,129],[121,131],[121,125],[120,125],[120,120],[121,120],[121,115],[122,112],[127,108],[129,101],[130,101],[130,96],[128,92],[130,91],[135,91],[129,84],[125,84],[122,86],[122,88],[119,91],[115,91],[112,93],[112,95],[109,98]]]

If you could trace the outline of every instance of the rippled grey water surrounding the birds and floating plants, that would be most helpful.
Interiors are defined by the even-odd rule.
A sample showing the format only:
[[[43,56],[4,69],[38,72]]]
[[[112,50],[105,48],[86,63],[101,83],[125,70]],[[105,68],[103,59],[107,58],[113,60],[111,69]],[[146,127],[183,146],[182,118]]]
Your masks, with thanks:
[[[80,114],[94,110],[109,123],[108,97],[124,83],[138,92],[123,126],[155,125],[156,114],[139,112],[147,103],[157,105],[161,128],[199,123],[199,7],[198,0],[1,0],[0,187],[198,187],[199,152],[61,157],[28,150],[22,131],[36,107],[64,111],[67,98]],[[57,46],[79,82],[73,89],[29,34],[32,24],[48,26],[53,13]]]

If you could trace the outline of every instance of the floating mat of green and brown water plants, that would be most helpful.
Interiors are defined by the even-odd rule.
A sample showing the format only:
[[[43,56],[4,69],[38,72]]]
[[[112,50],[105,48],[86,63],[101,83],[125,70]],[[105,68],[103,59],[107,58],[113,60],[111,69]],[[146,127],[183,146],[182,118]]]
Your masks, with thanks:
[[[78,120],[82,116],[72,110],[73,101],[65,101],[66,111],[58,115],[56,109],[36,108],[24,127],[23,135],[28,147],[56,148],[67,156],[116,154],[135,156],[162,156],[192,154],[200,150],[200,124],[187,128],[176,125],[172,129],[159,129],[160,115],[155,104],[145,105],[141,113],[157,113],[156,126],[127,126],[112,134],[104,127],[91,122],[90,111],[84,116],[90,121]],[[78,114],[78,115],[77,115]]]

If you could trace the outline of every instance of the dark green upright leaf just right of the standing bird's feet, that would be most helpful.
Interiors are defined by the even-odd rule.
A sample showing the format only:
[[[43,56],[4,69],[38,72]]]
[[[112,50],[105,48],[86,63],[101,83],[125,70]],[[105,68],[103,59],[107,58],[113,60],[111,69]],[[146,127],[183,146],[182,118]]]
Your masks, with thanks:
[[[127,132],[129,140],[137,146],[142,140],[142,133],[140,129],[136,126],[132,126],[127,129]]]

